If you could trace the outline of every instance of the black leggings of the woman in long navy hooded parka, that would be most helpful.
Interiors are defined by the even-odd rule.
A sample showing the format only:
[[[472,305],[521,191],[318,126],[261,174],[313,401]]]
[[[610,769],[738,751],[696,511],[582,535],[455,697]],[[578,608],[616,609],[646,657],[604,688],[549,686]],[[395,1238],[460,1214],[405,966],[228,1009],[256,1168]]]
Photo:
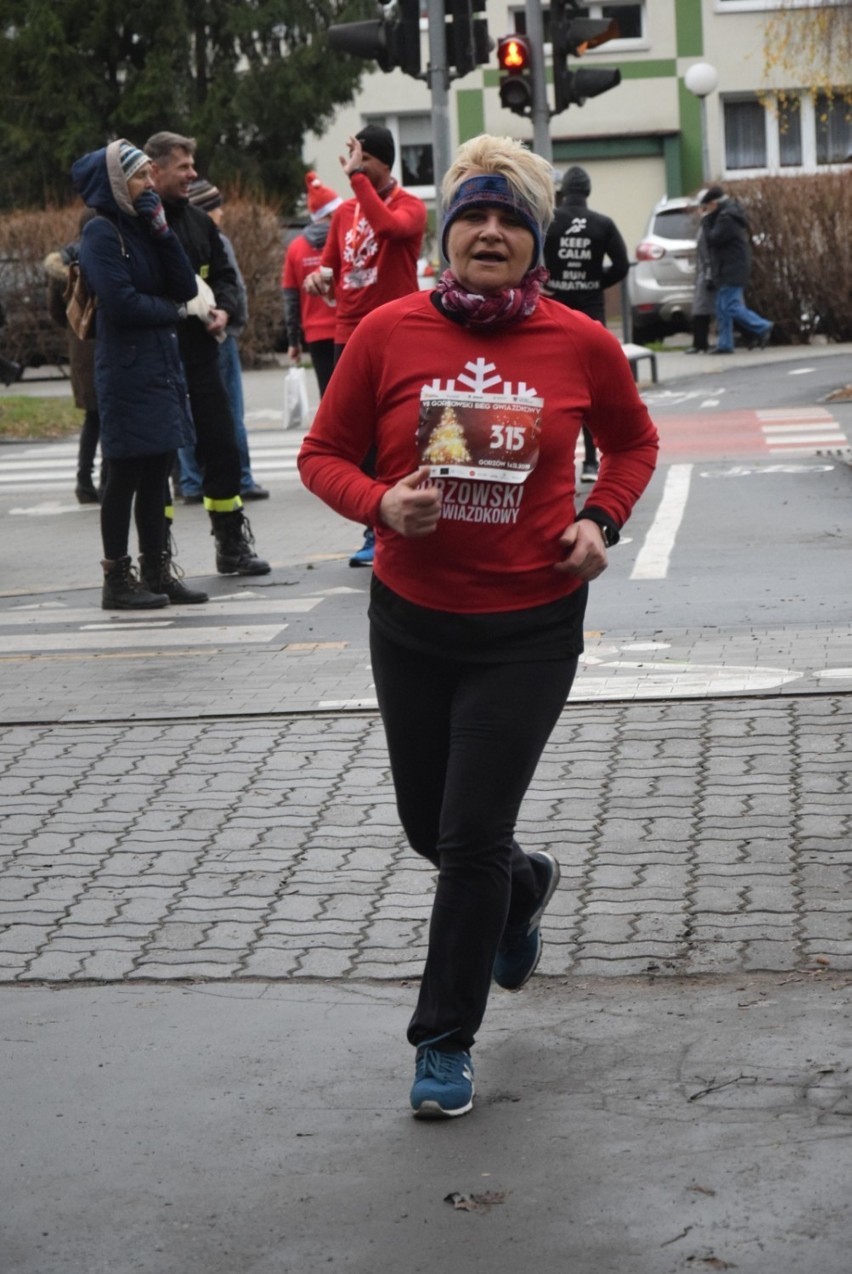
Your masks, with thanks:
[[[108,562],[127,555],[131,510],[136,520],[139,552],[159,558],[166,548],[163,492],[173,456],[174,452],[167,451],[159,456],[111,460],[107,465],[107,485],[101,498],[101,536]]]

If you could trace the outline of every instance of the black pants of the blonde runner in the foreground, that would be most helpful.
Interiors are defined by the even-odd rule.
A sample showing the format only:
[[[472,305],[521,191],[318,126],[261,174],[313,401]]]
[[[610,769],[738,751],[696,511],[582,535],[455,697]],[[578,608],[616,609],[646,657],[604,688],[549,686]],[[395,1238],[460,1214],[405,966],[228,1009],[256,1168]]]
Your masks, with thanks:
[[[437,659],[374,626],[371,652],[400,819],[411,847],[438,869],[408,1037],[470,1049],[507,920],[529,915],[541,893],[515,824],[577,659]]]

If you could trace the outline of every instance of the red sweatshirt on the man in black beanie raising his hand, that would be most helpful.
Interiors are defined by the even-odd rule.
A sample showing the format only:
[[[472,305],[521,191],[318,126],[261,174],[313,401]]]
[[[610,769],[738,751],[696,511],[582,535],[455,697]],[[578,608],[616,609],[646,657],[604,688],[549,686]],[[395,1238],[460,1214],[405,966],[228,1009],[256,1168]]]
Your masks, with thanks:
[[[353,173],[349,180],[355,197],[335,209],[322,250],[322,264],[334,270],[337,345],[345,344],[377,306],[418,290],[418,256],[427,223],[425,204],[402,186],[394,186],[382,197],[366,173]]]

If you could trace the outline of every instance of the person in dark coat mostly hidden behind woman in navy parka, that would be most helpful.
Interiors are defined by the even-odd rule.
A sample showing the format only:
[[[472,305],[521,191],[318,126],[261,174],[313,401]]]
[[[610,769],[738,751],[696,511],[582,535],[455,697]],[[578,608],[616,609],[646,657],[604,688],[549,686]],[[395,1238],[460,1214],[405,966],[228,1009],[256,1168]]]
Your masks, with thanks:
[[[79,232],[90,222],[96,213],[87,208],[80,217]],[[71,394],[74,405],[83,412],[83,426],[76,456],[76,485],[74,494],[79,505],[98,505],[101,490],[107,479],[106,465],[101,464],[99,489],[94,484],[94,460],[101,440],[101,419],[98,417],[98,397],[94,392],[94,341],[80,340],[69,327],[65,313],[65,292],[67,289],[69,269],[80,256],[79,237],[66,243],[59,252],[48,252],[45,257],[47,275],[47,312],[55,324],[67,334],[67,363],[71,375]]]

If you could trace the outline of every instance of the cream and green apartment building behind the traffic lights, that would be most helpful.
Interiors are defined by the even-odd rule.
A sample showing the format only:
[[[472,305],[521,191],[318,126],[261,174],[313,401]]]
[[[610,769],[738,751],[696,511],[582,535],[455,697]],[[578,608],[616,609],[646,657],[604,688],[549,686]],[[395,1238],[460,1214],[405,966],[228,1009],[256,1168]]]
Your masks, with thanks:
[[[560,171],[579,163],[590,172],[592,205],[615,218],[629,247],[642,237],[661,196],[689,194],[703,185],[703,140],[713,181],[848,164],[852,120],[846,103],[819,96],[814,101],[802,84],[785,83],[783,75],[768,75],[764,69],[767,20],[779,3],[592,0],[582,10],[618,19],[619,38],[587,52],[582,65],[618,66],[621,83],[583,107],[553,116],[553,163]],[[799,3],[807,6],[813,0]],[[488,0],[485,14],[494,41],[526,31],[522,3]],[[546,0],[543,17],[546,41]],[[422,29],[425,65],[425,17]],[[546,43],[549,80],[550,60]],[[684,80],[697,62],[711,64],[718,74],[703,110]],[[776,97],[779,90],[783,101]],[[548,97],[553,104],[550,82]],[[401,71],[364,75],[357,101],[340,111],[329,132],[306,136],[306,163],[323,182],[348,194],[337,155],[345,138],[366,122],[385,124],[394,132],[397,178],[427,204],[433,201],[430,93],[425,83]],[[453,150],[484,131],[532,143],[531,122],[501,104],[494,56],[489,65],[451,84],[450,129]]]

